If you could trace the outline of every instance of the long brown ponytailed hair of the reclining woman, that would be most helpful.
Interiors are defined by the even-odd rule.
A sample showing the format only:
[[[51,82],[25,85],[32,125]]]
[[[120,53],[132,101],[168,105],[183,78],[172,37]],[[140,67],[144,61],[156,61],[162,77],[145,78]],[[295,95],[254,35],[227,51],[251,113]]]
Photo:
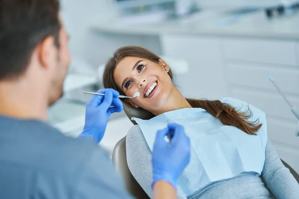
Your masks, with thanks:
[[[109,59],[106,64],[106,68],[103,75],[103,83],[105,88],[112,88],[124,95],[124,92],[116,85],[113,79],[113,72],[117,64],[125,57],[139,57],[149,59],[154,63],[159,63],[159,57],[149,50],[141,47],[128,46],[118,49],[112,58]],[[171,70],[168,72],[171,80],[173,75]],[[247,134],[254,135],[262,124],[258,124],[256,121],[248,121],[252,116],[251,110],[248,107],[246,112],[241,112],[235,107],[227,103],[222,103],[219,100],[196,100],[196,99],[186,99],[192,107],[199,107],[205,109],[211,115],[218,118],[223,124],[229,126],[235,126]]]

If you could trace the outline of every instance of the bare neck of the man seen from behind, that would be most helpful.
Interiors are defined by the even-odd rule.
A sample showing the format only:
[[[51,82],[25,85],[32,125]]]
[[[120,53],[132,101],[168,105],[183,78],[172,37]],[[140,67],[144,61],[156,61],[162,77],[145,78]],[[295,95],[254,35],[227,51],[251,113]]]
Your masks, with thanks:
[[[0,82],[0,114],[22,119],[47,119],[46,93],[30,80]]]

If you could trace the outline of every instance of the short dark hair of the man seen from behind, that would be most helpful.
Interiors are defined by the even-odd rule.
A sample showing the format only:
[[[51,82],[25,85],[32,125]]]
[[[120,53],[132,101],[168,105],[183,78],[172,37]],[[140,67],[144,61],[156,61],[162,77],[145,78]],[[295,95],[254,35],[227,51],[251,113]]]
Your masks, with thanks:
[[[0,80],[22,75],[47,36],[59,46],[59,0],[0,1]]]

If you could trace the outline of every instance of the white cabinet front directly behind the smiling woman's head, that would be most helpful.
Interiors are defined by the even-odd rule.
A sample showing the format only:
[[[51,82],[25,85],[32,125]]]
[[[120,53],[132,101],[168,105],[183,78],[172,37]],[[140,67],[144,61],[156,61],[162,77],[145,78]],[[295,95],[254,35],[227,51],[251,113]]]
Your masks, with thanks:
[[[175,85],[185,97],[221,99],[227,96],[219,39],[170,34],[160,39],[164,55],[182,58],[189,64],[187,74],[175,77]]]

